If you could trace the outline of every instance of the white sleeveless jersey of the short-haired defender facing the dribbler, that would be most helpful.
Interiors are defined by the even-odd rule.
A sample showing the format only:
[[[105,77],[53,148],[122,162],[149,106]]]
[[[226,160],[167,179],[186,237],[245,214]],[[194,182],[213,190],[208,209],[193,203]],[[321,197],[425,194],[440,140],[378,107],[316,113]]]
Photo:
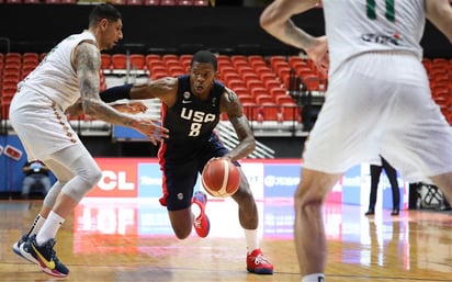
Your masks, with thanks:
[[[19,83],[56,102],[66,110],[80,98],[77,72],[71,61],[74,48],[83,41],[95,42],[94,35],[84,31],[63,40],[43,61]]]

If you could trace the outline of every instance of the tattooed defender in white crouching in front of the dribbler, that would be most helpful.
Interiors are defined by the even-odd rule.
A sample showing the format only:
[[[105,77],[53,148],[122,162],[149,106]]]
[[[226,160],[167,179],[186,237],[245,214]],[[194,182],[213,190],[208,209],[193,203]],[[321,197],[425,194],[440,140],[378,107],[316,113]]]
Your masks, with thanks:
[[[166,129],[152,120],[121,113],[99,98],[100,50],[122,40],[122,15],[111,4],[94,7],[89,29],[68,36],[52,49],[36,69],[18,86],[10,120],[27,157],[41,159],[57,182],[47,193],[29,233],[13,251],[37,263],[54,277],[69,270],[55,255],[55,236],[65,218],[101,178],[101,170],[71,128],[65,111],[80,100],[84,113],[94,119],[133,127],[149,136]]]

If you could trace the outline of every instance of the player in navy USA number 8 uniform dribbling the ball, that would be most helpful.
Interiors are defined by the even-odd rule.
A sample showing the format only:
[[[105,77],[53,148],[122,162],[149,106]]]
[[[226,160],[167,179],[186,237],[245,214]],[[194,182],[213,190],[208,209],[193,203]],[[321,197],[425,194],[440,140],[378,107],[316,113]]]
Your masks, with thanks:
[[[225,158],[237,167],[237,160],[255,150],[255,137],[244,115],[237,94],[215,80],[217,60],[214,54],[200,50],[193,55],[190,75],[167,77],[147,84],[113,87],[101,93],[105,102],[118,99],[152,99],[162,102],[162,126],[169,129],[158,153],[163,171],[163,196],[172,229],[179,239],[187,238],[194,226],[206,237],[210,222],[205,214],[206,195],[193,189],[199,173],[212,158]],[[214,133],[221,113],[226,113],[239,139],[230,151]],[[248,248],[247,270],[272,274],[273,266],[263,257],[258,239],[258,210],[246,176],[240,170],[239,190],[233,195],[238,203],[239,222]]]

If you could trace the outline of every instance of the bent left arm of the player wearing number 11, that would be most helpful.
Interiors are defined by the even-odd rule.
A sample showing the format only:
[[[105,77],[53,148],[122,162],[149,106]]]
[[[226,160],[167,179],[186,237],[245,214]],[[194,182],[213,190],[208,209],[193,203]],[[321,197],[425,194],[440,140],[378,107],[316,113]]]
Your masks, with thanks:
[[[317,7],[319,0],[275,0],[263,10],[260,25],[281,42],[304,49],[324,72],[329,66],[326,36],[314,37],[297,27],[291,18]]]

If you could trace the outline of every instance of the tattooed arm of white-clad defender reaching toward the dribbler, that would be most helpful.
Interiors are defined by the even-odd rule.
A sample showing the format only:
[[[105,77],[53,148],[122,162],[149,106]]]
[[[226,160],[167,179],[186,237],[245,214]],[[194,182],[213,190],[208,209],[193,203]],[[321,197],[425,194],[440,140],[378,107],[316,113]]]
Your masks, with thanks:
[[[99,97],[101,53],[94,44],[90,42],[80,43],[75,49],[74,57],[80,87],[81,106],[86,114],[112,124],[134,127],[148,136],[154,144],[160,139],[160,137],[154,135],[156,131],[162,135],[161,137],[166,137],[168,131],[155,125],[152,120],[134,117],[117,112],[102,102]]]

